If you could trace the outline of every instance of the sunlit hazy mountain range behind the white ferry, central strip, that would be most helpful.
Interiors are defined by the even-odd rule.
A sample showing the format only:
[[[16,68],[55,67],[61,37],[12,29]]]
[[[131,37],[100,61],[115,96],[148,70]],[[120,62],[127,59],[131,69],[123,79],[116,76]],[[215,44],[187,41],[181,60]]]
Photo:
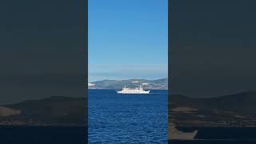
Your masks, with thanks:
[[[88,83],[89,89],[112,89],[120,90],[124,86],[134,88],[142,86],[145,90],[167,90],[168,78],[157,80],[128,79],[128,80],[102,80]]]

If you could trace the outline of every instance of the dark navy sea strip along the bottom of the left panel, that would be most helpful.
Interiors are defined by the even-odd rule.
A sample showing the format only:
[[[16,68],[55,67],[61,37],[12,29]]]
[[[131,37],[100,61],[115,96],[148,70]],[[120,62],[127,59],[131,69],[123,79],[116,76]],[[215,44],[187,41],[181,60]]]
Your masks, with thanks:
[[[0,126],[1,144],[85,144],[86,126]]]

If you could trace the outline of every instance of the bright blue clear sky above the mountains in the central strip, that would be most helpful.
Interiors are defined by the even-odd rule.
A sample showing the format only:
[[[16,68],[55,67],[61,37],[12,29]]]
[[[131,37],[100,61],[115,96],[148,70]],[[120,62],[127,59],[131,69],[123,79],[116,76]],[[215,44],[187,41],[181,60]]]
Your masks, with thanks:
[[[89,0],[89,81],[167,78],[167,0]]]

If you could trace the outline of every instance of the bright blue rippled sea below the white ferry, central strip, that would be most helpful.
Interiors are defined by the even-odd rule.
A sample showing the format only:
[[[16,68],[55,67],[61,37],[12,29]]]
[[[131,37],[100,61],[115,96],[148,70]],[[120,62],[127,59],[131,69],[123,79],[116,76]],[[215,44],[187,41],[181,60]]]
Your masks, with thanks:
[[[167,143],[168,91],[89,90],[89,143]]]

